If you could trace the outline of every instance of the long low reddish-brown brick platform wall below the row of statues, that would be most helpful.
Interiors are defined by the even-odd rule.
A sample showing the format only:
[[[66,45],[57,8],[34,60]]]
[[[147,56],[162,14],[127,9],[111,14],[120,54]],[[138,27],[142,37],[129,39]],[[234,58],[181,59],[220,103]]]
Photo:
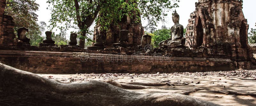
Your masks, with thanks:
[[[230,59],[0,50],[0,63],[44,74],[156,73],[235,70]],[[246,63],[245,63],[246,64]]]

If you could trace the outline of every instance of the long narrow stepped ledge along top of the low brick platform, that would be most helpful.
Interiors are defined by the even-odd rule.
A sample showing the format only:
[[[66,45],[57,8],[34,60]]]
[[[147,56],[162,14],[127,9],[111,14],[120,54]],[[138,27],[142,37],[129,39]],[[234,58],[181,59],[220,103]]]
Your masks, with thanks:
[[[76,53],[77,54],[77,53]],[[166,56],[136,56],[136,55],[111,55],[111,54],[93,54],[74,56],[74,53],[67,52],[44,52],[44,51],[18,51],[18,50],[0,50],[0,55],[13,56],[53,56],[53,57],[74,57],[91,59],[112,59],[112,60],[149,60],[149,61],[214,61],[214,62],[232,62],[230,59],[218,58],[193,58],[193,57],[166,57]]]

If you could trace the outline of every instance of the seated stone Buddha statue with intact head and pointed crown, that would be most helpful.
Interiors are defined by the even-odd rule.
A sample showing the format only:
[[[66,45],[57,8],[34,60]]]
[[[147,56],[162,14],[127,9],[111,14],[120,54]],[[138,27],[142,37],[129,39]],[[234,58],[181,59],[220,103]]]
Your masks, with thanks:
[[[174,26],[171,27],[171,38],[166,39],[160,43],[158,43],[158,46],[176,46],[182,44],[182,38],[183,38],[183,26],[179,23],[180,16],[176,12],[172,15],[172,21],[174,23]]]

